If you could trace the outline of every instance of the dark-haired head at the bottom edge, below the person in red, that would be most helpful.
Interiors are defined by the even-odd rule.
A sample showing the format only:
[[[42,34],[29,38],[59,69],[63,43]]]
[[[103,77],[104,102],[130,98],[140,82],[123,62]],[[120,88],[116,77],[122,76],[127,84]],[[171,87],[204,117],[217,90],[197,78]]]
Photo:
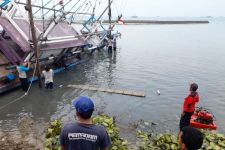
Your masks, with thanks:
[[[203,144],[203,134],[196,128],[187,126],[179,133],[179,146],[181,150],[198,150]]]

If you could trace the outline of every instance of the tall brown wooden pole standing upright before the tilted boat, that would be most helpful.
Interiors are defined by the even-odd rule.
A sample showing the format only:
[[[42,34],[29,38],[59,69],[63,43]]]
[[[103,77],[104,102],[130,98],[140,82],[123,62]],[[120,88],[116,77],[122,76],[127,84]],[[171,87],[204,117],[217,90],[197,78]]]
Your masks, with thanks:
[[[41,69],[40,69],[40,63],[39,63],[39,46],[38,46],[38,41],[36,37],[36,31],[34,27],[34,19],[33,19],[33,14],[32,14],[32,6],[31,6],[31,0],[27,0],[27,5],[25,9],[28,11],[29,14],[29,20],[30,20],[30,29],[31,29],[31,34],[32,34],[32,48],[34,51],[34,55],[36,58],[36,74],[38,76],[38,81],[39,81],[39,87],[42,88],[42,83],[41,83]]]

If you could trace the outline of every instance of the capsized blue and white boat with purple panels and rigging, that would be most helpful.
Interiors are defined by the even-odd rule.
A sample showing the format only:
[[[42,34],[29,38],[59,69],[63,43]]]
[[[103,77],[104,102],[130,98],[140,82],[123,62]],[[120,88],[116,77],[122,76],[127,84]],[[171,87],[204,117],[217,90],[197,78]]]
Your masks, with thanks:
[[[52,1],[53,5],[49,6]],[[51,65],[53,69],[59,69],[70,64],[78,64],[82,61],[83,53],[90,52],[90,50],[93,52],[95,49],[106,46],[107,43],[104,41],[107,40],[109,32],[106,29],[99,31],[98,28],[101,27],[101,17],[109,6],[104,9],[98,19],[94,19],[94,13],[83,9],[87,5],[93,6],[87,0],[79,0],[73,4],[71,0],[60,0],[57,3],[54,3],[54,0],[44,3],[42,0],[42,5],[35,2],[32,4],[32,8],[35,8],[33,28],[38,39],[38,60],[41,67]],[[19,1],[4,1],[0,3],[0,7],[0,93],[2,93],[20,85],[15,70],[17,62],[33,63],[28,73],[31,77],[36,58],[27,4]],[[36,17],[35,14],[41,17]],[[79,14],[91,16],[92,19],[82,24],[83,29],[87,29],[88,32],[78,31],[73,23],[69,23],[68,18]],[[111,30],[112,28],[110,28],[110,33]],[[31,80],[33,79],[37,78]]]

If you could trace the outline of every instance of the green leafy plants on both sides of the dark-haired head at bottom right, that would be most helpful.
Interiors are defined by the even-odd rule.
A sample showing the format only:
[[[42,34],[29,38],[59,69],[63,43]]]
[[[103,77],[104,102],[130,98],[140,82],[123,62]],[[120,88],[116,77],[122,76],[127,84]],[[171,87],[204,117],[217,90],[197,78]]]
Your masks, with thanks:
[[[225,136],[214,134],[211,131],[202,130],[204,142],[201,150],[225,149]],[[151,137],[147,132],[137,131],[138,147],[140,150],[179,150],[178,138],[170,133],[158,134]]]

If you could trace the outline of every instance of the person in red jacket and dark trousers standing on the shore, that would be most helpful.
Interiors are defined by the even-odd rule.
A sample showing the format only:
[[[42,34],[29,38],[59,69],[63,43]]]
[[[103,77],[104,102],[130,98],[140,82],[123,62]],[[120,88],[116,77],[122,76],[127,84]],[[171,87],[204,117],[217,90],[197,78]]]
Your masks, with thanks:
[[[190,94],[185,98],[183,104],[183,113],[180,119],[180,131],[183,127],[190,125],[191,116],[195,111],[195,105],[199,101],[199,95],[197,92],[198,85],[191,83],[189,91]]]

